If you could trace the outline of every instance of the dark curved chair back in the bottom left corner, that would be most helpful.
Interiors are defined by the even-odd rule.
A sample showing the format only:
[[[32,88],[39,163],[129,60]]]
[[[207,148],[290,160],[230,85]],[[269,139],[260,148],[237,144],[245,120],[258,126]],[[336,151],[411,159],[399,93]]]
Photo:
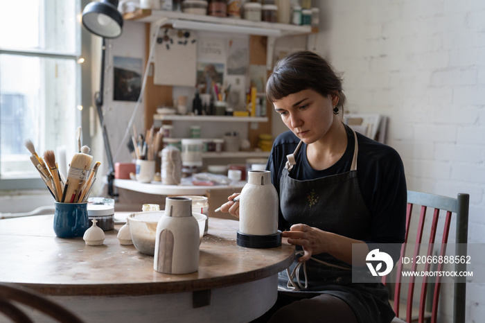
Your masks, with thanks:
[[[11,283],[0,283],[0,313],[10,318],[12,322],[33,322],[18,306],[19,304],[27,306],[27,308],[22,307],[22,309],[29,311],[30,308],[33,308],[61,323],[82,323],[76,315],[43,295]]]

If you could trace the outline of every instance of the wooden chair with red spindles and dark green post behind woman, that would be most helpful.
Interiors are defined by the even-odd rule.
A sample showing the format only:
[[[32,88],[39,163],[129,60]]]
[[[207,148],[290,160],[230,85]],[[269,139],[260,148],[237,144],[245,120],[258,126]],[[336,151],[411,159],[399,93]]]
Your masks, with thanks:
[[[439,256],[445,256],[446,254],[446,243],[448,243],[448,233],[450,231],[450,222],[452,218],[452,213],[456,214],[456,250],[455,255],[466,255],[466,243],[468,240],[468,206],[469,206],[470,195],[460,193],[457,198],[448,198],[440,195],[433,195],[428,193],[418,193],[414,191],[407,191],[407,214],[406,214],[406,235],[405,243],[401,249],[401,259],[405,255],[406,243],[413,243],[413,238],[409,236],[409,225],[412,219],[412,209],[414,205],[421,206],[421,212],[418,220],[418,229],[415,238],[415,247],[413,252],[413,259],[416,256],[423,255],[420,253],[420,245],[423,240],[423,229],[425,228],[425,217],[427,213],[430,213],[432,209],[432,223],[429,232],[430,238],[428,241],[428,248],[426,256],[436,256],[433,254],[434,239],[436,236],[437,225],[439,220],[440,210],[445,212],[446,216],[443,225],[443,238],[441,240],[441,250]],[[429,211],[428,211],[429,209]],[[430,214],[431,215],[431,214]],[[412,263],[411,270],[416,270],[416,261]],[[430,270],[430,263],[425,264],[424,271]],[[438,268],[436,270],[443,270],[443,263],[437,264]],[[398,261],[397,272],[400,273],[403,270],[403,261]],[[466,263],[455,263],[455,269],[457,271],[466,271]],[[428,282],[433,282],[434,280],[434,290],[432,293],[432,306],[431,312],[425,311],[425,304],[427,299],[427,286]],[[382,278],[382,282],[386,283],[385,277]],[[439,302],[439,291],[441,287],[441,277],[423,277],[421,282],[421,295],[419,298],[419,307],[414,308],[413,311],[413,299],[414,299],[414,287],[416,282],[415,277],[409,277],[409,288],[407,290],[407,300],[405,304],[400,304],[400,291],[401,291],[402,275],[396,274],[396,284],[394,286],[394,302],[393,304],[394,313],[401,320],[405,322],[426,322],[430,320],[432,323],[436,323],[437,312],[438,312],[438,302]],[[466,280],[465,277],[455,277],[454,283],[454,295],[453,295],[453,322],[463,323],[465,322],[465,301],[466,301]],[[417,296],[417,295],[416,295]],[[430,297],[428,297],[430,298]],[[428,300],[430,302],[430,300]],[[400,311],[405,306],[405,311]],[[403,313],[404,312],[404,313]],[[416,313],[417,312],[417,313]],[[402,322],[399,319],[393,320],[394,322]]]

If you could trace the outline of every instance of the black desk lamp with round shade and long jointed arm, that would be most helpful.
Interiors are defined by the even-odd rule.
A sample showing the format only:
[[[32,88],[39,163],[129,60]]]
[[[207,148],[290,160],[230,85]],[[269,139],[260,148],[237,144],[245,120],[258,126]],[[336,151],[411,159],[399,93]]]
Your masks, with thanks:
[[[103,88],[105,82],[105,51],[106,38],[116,38],[121,35],[123,28],[123,17],[118,12],[118,0],[101,0],[93,1],[85,6],[82,11],[82,24],[94,35],[103,37],[103,46],[101,51],[101,78],[100,90],[94,95],[96,109],[98,110],[99,122],[103,130],[103,141],[105,143],[105,150],[108,160],[108,193],[114,196],[113,180],[114,180],[114,164],[109,147],[109,140],[107,136],[106,125],[103,121]]]

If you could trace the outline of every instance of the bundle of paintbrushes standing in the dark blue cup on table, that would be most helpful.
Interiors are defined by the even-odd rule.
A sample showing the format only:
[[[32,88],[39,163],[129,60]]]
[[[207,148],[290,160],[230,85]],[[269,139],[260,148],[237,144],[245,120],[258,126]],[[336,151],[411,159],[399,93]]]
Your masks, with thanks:
[[[44,163],[44,159],[35,152],[32,141],[26,140],[25,146],[32,153],[30,160],[37,171],[39,171],[40,177],[46,183],[56,202],[81,203],[87,200],[101,164],[100,161],[96,161],[96,164],[91,168],[93,157],[87,155],[89,147],[82,146],[78,148],[79,152],[71,160],[66,180],[58,169],[53,150],[44,152]]]

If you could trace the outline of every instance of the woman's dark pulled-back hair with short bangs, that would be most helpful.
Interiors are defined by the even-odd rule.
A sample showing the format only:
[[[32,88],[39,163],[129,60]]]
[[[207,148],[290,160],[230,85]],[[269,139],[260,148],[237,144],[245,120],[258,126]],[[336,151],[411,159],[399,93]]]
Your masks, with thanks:
[[[296,51],[276,63],[266,83],[266,96],[274,102],[304,89],[312,89],[322,96],[337,92],[337,107],[344,106],[342,78],[337,76],[330,64],[311,51]]]

